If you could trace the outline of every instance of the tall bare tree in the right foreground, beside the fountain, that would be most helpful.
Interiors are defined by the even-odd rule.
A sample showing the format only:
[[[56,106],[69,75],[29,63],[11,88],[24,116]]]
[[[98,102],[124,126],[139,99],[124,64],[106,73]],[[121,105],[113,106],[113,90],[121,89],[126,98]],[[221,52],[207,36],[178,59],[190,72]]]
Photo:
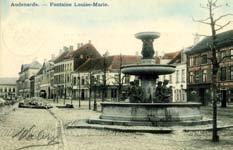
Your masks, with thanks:
[[[223,7],[224,5],[217,4],[218,0],[208,0],[206,6],[202,6],[208,11],[208,17],[200,20],[193,19],[195,22],[199,22],[202,24],[206,24],[210,26],[211,35],[208,36],[211,39],[211,43],[208,45],[211,50],[211,57],[209,58],[212,64],[212,102],[213,102],[213,133],[212,133],[212,141],[217,142],[219,141],[218,136],[218,129],[217,129],[217,73],[220,68],[220,63],[222,60],[218,60],[217,53],[219,52],[219,48],[217,48],[217,41],[216,41],[216,34],[219,30],[223,29],[224,27],[228,26],[231,21],[227,21],[224,24],[220,24],[220,21],[225,17],[232,16],[233,14],[227,13],[221,16],[216,16],[215,12],[216,9]],[[228,4],[226,4],[228,5]],[[206,36],[206,35],[202,35]]]

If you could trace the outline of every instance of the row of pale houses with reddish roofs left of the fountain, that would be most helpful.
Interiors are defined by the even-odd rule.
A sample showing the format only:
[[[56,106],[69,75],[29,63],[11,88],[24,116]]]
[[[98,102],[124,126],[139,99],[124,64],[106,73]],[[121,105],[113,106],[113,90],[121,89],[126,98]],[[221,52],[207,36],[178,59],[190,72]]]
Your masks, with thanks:
[[[48,99],[87,99],[91,86],[96,84],[97,97],[102,97],[101,88],[105,83],[105,97],[117,99],[119,74],[122,76],[123,85],[130,81],[129,77],[123,78],[119,73],[120,66],[137,61],[138,56],[101,56],[90,42],[85,45],[78,44],[76,50],[73,46],[64,47],[57,57],[45,61],[42,65],[37,61],[22,65],[17,80],[18,95]]]

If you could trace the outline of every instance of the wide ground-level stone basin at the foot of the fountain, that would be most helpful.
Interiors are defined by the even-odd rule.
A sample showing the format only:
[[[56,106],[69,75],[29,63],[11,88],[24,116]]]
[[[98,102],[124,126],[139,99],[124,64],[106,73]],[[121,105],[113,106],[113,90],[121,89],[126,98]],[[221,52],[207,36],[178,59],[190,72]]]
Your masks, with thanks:
[[[90,124],[174,126],[208,124],[200,103],[101,103],[102,114]]]

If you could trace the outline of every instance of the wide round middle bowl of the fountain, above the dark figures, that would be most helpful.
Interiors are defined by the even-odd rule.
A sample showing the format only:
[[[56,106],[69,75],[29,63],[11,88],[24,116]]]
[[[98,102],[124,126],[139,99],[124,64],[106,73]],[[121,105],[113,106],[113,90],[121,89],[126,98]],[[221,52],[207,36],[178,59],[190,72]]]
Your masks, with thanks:
[[[170,74],[175,71],[173,65],[160,65],[160,64],[133,64],[125,65],[121,68],[122,73],[130,75],[164,75]]]

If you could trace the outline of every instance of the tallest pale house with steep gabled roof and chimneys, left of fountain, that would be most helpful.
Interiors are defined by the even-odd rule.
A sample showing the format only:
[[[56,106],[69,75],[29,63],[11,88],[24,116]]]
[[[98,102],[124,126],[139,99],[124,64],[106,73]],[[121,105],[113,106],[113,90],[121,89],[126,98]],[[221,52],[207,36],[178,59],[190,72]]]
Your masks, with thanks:
[[[77,50],[64,47],[64,52],[54,60],[54,90],[59,98],[72,97],[71,74],[80,65],[91,58],[101,57],[95,47],[89,42],[85,45],[78,45]]]

